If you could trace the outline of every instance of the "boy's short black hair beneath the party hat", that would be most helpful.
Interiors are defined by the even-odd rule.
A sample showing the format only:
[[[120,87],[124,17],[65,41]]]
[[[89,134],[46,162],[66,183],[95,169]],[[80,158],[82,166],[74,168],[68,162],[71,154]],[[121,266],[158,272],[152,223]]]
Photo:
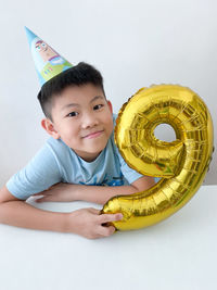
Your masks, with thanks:
[[[44,115],[52,121],[52,101],[67,87],[92,84],[104,93],[103,77],[92,65],[80,62],[48,80],[38,93],[38,100]],[[104,93],[105,96],[105,93]]]

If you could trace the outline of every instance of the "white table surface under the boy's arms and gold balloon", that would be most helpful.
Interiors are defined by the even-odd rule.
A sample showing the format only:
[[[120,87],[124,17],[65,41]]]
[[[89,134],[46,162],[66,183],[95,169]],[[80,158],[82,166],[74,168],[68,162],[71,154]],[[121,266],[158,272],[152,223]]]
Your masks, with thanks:
[[[52,211],[100,209],[30,202]],[[0,225],[0,289],[217,289],[216,204],[217,186],[203,186],[168,219],[99,240]]]

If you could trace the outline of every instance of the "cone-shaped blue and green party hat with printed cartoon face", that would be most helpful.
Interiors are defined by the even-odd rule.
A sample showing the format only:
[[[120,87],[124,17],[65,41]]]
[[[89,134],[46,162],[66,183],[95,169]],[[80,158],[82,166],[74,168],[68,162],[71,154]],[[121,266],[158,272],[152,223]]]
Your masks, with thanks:
[[[73,66],[30,29],[25,29],[41,86]]]

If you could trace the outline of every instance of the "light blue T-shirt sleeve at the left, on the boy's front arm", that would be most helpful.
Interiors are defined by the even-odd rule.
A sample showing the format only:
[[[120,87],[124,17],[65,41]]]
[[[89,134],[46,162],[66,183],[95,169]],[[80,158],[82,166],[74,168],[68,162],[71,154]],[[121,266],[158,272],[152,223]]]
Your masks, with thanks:
[[[55,155],[49,146],[7,182],[8,190],[17,199],[26,200],[34,193],[41,192],[61,181],[61,173]]]

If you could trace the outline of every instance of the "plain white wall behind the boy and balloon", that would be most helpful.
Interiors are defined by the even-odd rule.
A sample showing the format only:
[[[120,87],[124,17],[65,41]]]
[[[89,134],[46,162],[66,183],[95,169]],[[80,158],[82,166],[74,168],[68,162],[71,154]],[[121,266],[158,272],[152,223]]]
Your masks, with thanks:
[[[99,68],[115,112],[141,87],[179,84],[196,91],[217,122],[215,0],[0,0],[0,186],[47,138],[25,25],[72,63]],[[215,154],[206,184],[216,180]]]

